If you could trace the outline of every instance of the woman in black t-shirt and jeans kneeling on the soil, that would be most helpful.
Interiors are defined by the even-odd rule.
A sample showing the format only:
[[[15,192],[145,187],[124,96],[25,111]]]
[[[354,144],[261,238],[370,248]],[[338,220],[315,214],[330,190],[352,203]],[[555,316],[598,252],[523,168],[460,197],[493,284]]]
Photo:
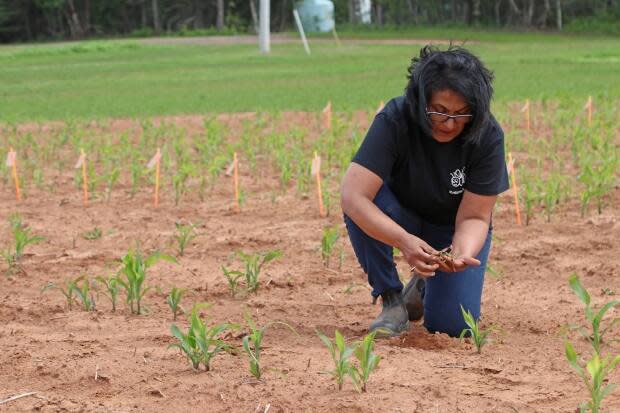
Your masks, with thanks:
[[[424,317],[458,336],[460,306],[480,316],[491,213],[508,189],[504,135],[490,112],[492,73],[469,51],[426,46],[405,95],[377,114],[342,182],[351,244],[383,309],[370,330],[398,335]],[[394,258],[411,267],[403,289]],[[453,264],[438,251],[451,247]]]

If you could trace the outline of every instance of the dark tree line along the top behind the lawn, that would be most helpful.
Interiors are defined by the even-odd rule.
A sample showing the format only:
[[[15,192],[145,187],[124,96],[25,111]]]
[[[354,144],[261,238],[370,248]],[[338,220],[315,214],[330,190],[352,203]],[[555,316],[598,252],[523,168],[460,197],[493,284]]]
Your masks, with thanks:
[[[0,0],[0,42],[253,32],[259,0]],[[363,0],[333,0],[337,25],[359,23]],[[296,0],[271,0],[271,29],[293,27]],[[620,31],[620,0],[371,0],[374,26],[463,24]]]

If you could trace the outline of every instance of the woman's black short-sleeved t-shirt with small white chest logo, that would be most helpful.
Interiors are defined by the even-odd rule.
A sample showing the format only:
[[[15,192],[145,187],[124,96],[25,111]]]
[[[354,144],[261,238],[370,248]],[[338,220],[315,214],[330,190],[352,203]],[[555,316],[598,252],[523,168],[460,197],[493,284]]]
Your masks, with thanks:
[[[463,190],[497,195],[508,189],[504,132],[492,118],[479,143],[441,143],[409,115],[404,96],[375,117],[353,162],[383,179],[403,207],[437,225],[454,225]]]

